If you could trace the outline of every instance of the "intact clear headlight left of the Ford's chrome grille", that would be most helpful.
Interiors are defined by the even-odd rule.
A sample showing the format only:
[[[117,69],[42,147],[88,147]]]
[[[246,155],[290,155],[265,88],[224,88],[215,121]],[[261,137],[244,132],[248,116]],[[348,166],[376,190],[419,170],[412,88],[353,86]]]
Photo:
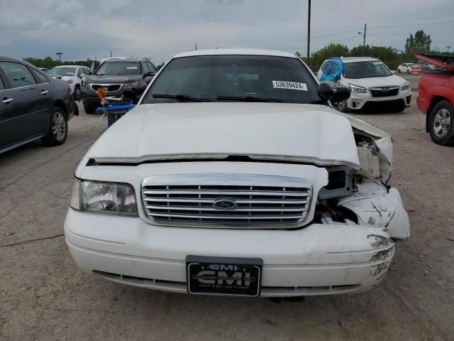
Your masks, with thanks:
[[[133,186],[74,179],[71,207],[74,210],[137,217]]]

